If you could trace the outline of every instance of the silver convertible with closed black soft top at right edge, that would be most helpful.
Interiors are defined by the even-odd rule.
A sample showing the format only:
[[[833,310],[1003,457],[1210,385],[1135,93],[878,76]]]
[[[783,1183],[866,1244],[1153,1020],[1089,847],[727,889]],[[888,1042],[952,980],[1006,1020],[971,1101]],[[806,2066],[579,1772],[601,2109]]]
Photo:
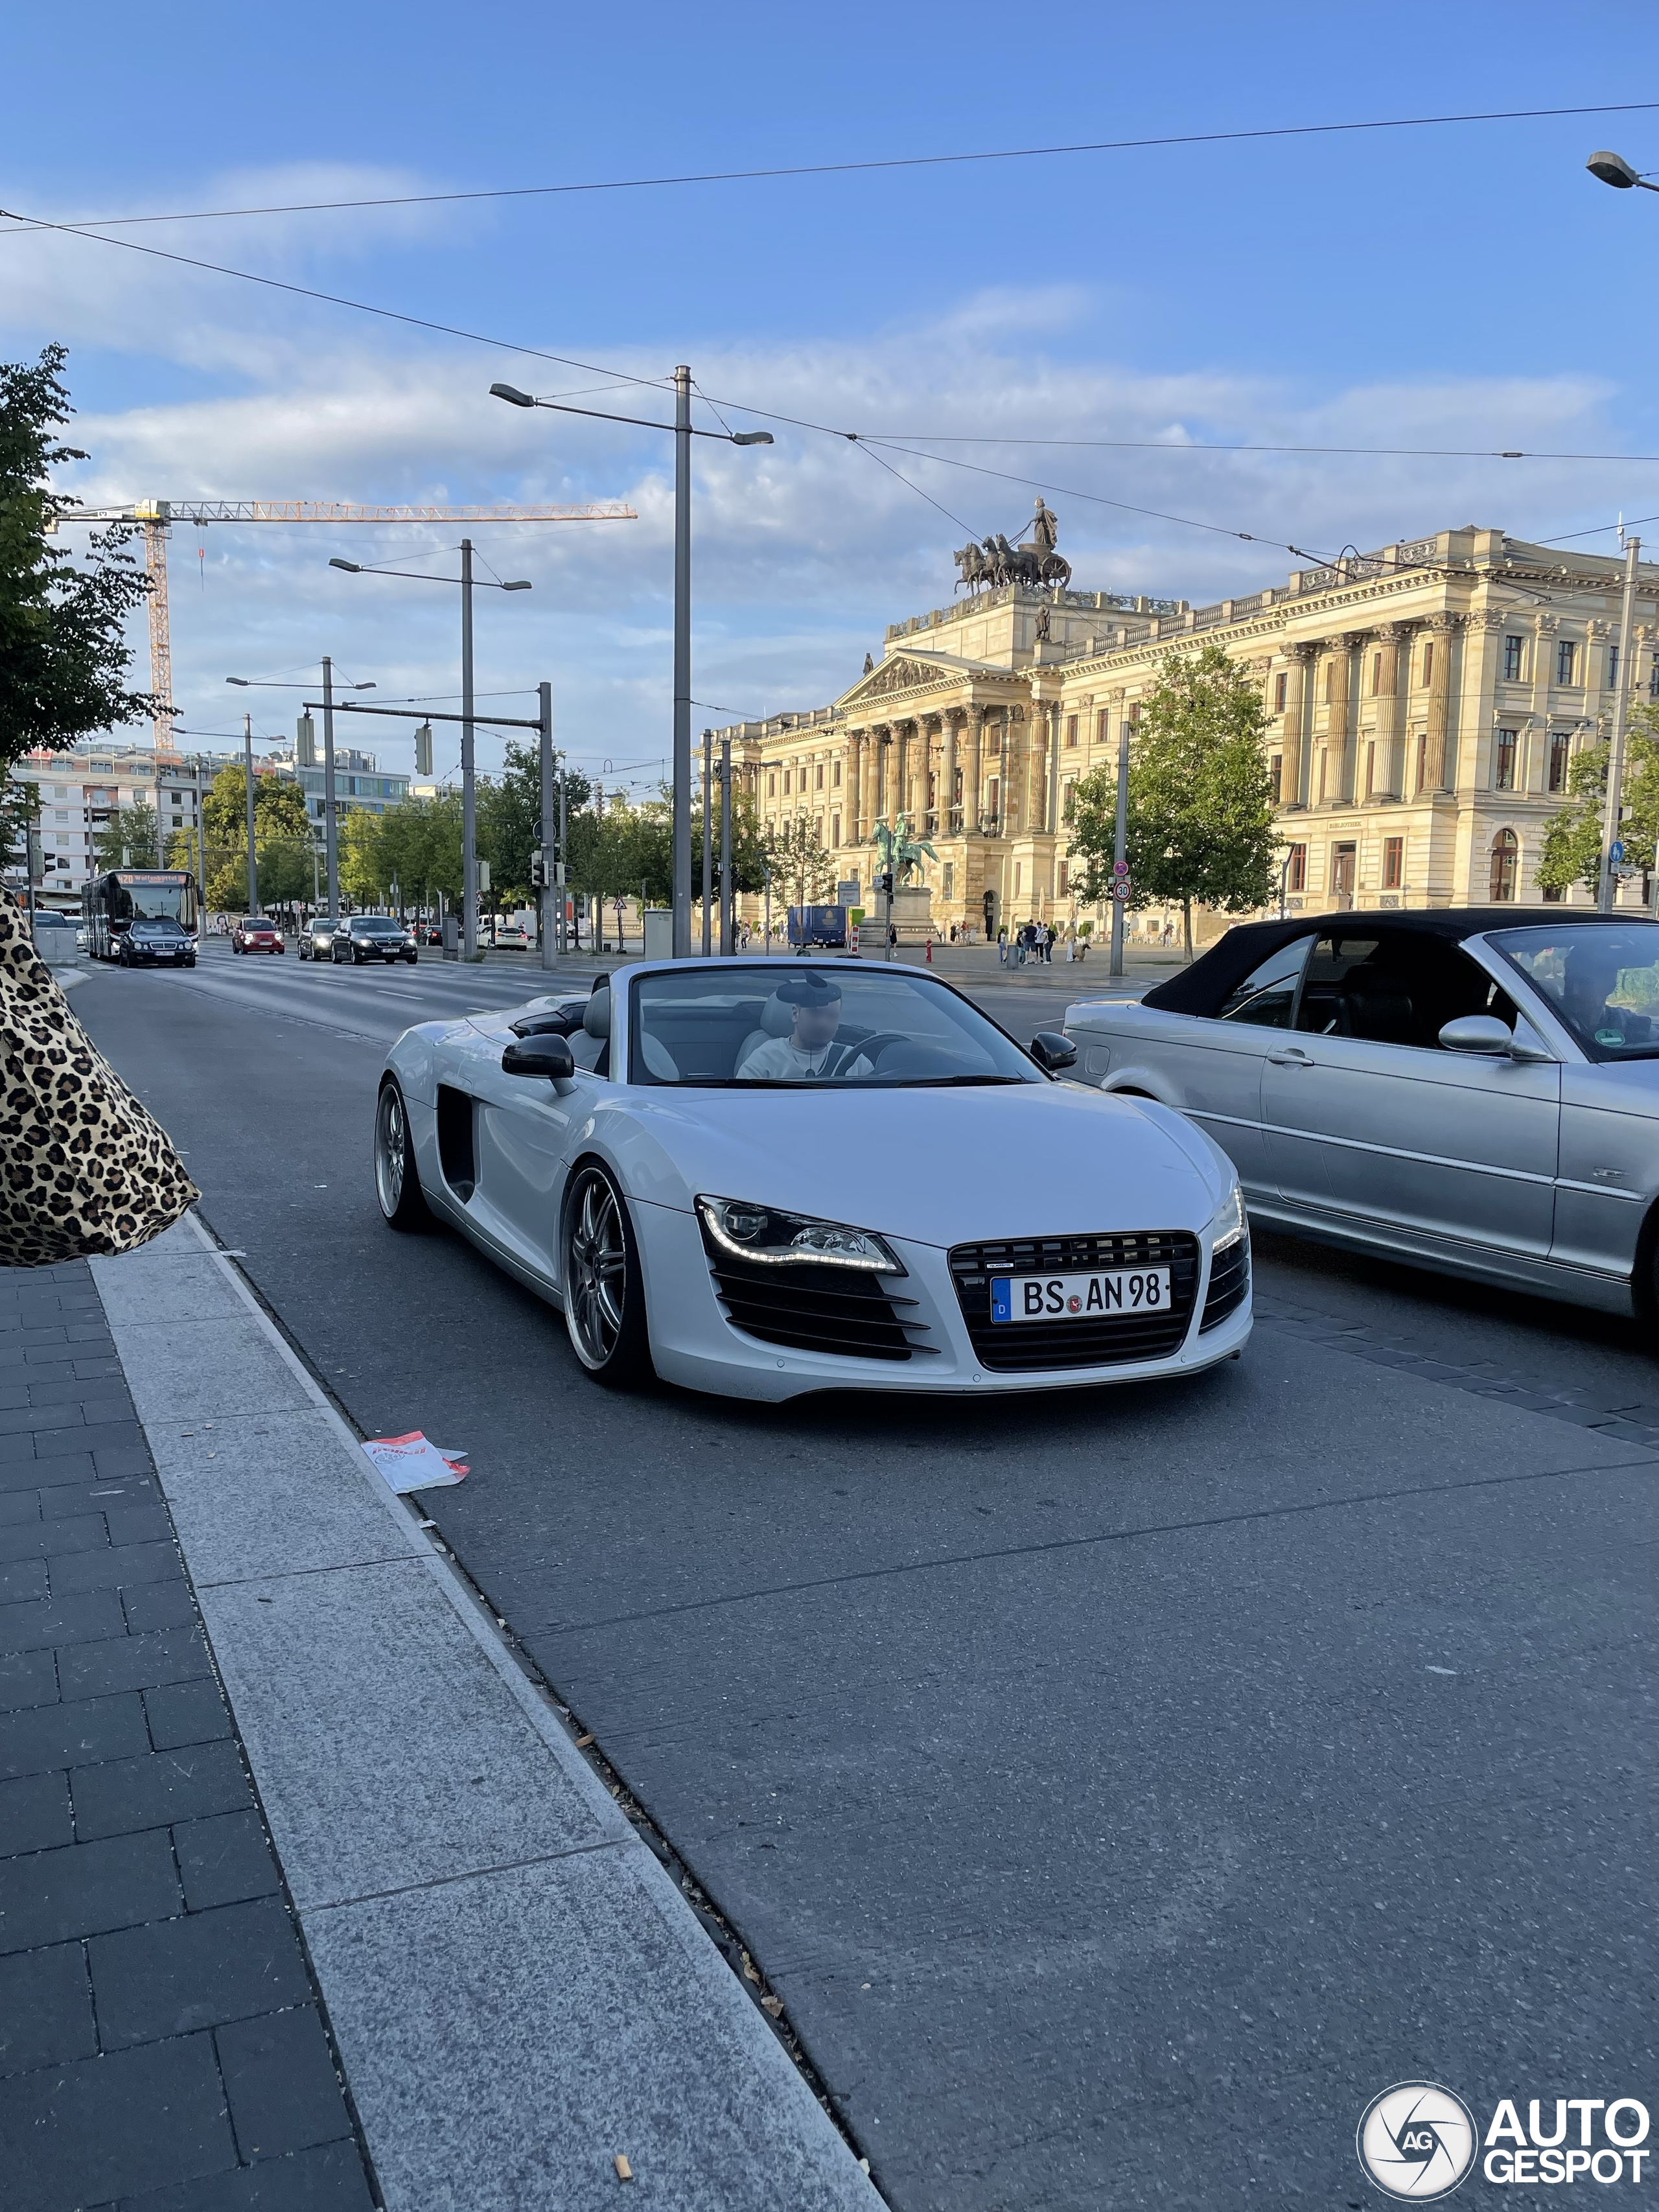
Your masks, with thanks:
[[[1077,1077],[1192,1115],[1256,1221],[1659,1312],[1659,922],[1562,907],[1248,922],[1066,1011]]]

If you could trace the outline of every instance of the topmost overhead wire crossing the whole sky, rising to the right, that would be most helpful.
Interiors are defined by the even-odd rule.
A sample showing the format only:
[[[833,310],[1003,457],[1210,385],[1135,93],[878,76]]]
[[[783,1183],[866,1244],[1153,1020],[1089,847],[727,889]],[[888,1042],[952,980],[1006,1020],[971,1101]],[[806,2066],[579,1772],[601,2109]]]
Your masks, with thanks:
[[[774,168],[688,170],[672,177],[597,177],[575,184],[509,184],[469,192],[387,192],[374,199],[301,199],[261,208],[186,208],[173,215],[100,215],[46,223],[11,215],[24,230],[131,230],[137,223],[217,223],[252,215],[341,215],[361,208],[440,208],[487,199],[560,199],[575,192],[657,192],[690,184],[770,184],[787,177],[856,177],[898,168],[962,168],[975,161],[1053,161],[1086,153],[1152,153],[1175,146],[1243,146],[1259,139],[1340,137],[1363,131],[1438,131],[1451,124],[1555,122],[1573,115],[1648,115],[1659,100],[1619,100],[1582,108],[1480,108],[1464,115],[1383,115],[1343,124],[1263,124],[1254,131],[1179,131],[1139,139],[1077,139],[1060,146],[995,146],[971,153],[876,155],[865,161],[799,161]],[[0,210],[4,215],[7,210]]]

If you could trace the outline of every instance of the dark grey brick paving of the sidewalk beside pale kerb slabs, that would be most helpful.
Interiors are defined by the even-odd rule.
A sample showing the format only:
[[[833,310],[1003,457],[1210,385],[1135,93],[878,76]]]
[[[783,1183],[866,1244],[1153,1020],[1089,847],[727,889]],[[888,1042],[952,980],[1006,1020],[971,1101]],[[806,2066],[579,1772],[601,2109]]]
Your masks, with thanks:
[[[0,1270],[0,2199],[367,2212],[84,1261]]]

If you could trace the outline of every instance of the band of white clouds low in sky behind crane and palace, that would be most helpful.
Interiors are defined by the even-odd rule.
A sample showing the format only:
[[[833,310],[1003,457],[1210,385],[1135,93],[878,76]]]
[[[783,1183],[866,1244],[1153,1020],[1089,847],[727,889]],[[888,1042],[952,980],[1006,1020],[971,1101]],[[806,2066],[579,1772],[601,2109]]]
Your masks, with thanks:
[[[363,179],[363,170],[327,179],[261,173],[223,179],[219,204],[354,197]],[[316,252],[316,234],[303,232],[314,219],[281,221],[288,230],[276,237],[259,228],[261,265],[292,257],[314,276],[305,257]],[[460,219],[442,210],[352,217],[361,230],[330,232],[330,252],[416,246],[422,223],[451,221]],[[210,259],[254,250],[248,239],[232,246],[219,226],[212,232]],[[86,498],[633,504],[639,520],[624,524],[473,529],[500,573],[535,582],[529,599],[491,593],[480,602],[480,688],[533,686],[551,675],[562,734],[584,757],[633,761],[666,750],[668,438],[580,416],[522,414],[487,396],[489,383],[507,376],[549,394],[582,392],[577,405],[668,420],[670,400],[659,387],[604,394],[593,389],[604,376],[400,334],[334,310],[290,310],[279,294],[259,294],[250,305],[252,288],[168,265],[157,265],[153,279],[139,257],[77,241],[49,248],[9,239],[0,250],[11,257],[9,276],[22,270],[0,310],[4,330],[62,330],[75,345],[148,352],[192,372],[177,400],[77,418],[75,438],[93,453],[75,480]],[[739,427],[763,420],[745,405],[763,407],[770,418],[896,436],[916,449],[931,442],[938,456],[860,451],[790,420],[765,420],[776,434],[770,449],[697,442],[701,699],[768,712],[834,697],[865,650],[880,650],[887,622],[949,602],[949,555],[964,535],[1018,533],[1035,482],[1060,513],[1062,551],[1079,588],[1199,602],[1281,580],[1296,562],[1274,540],[1334,553],[1349,542],[1371,546],[1471,520],[1544,535],[1601,520],[1604,511],[1610,520],[1619,502],[1626,513],[1644,511],[1639,489],[1630,489],[1641,478],[1619,469],[1181,449],[1237,440],[1606,451],[1617,442],[1606,422],[1615,392],[1601,376],[1356,378],[1338,392],[1298,392],[1221,369],[1144,374],[1079,354],[1077,325],[1091,299],[1075,288],[982,292],[929,325],[803,336],[792,345],[737,343],[695,363],[699,387]],[[511,321],[507,310],[502,321]],[[13,338],[0,343],[20,349]],[[615,347],[568,332],[555,334],[549,349],[650,380],[672,361],[668,345]],[[71,358],[71,380],[73,367]],[[148,374],[146,383],[155,387],[157,378]],[[192,396],[204,383],[217,389]],[[706,409],[699,420],[714,427]],[[942,442],[949,438],[982,442]],[[1000,442],[1020,438],[1119,442]],[[1135,440],[1161,449],[1135,449]],[[1121,504],[1095,504],[1084,493]],[[327,568],[327,555],[407,566],[442,555],[456,538],[456,526],[436,524],[215,526],[199,562],[197,535],[179,526],[175,697],[190,726],[232,728],[226,703],[237,695],[223,690],[223,675],[285,668],[323,650],[374,675],[383,697],[453,692],[449,595],[343,577]],[[265,697],[274,714],[281,710],[274,728],[285,728],[283,695]],[[409,748],[383,739],[376,750],[400,759]]]

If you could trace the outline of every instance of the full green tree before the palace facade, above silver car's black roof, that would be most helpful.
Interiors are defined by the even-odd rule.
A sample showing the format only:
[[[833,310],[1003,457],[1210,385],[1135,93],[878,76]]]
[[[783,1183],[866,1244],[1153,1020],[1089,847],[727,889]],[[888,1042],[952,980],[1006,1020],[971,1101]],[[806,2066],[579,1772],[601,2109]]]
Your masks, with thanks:
[[[1141,701],[1128,765],[1130,905],[1179,900],[1192,958],[1192,905],[1252,914],[1274,889],[1274,810],[1261,692],[1221,646],[1181,653]],[[1077,896],[1108,898],[1117,770],[1075,790],[1071,858]]]

